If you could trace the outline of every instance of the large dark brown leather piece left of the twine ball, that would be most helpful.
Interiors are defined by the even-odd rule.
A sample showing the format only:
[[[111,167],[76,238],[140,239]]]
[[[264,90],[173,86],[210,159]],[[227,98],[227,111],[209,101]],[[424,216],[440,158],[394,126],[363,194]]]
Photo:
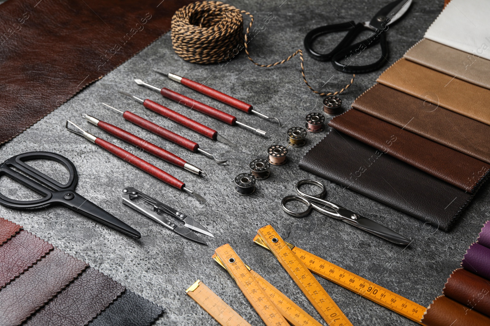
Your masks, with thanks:
[[[2,3],[0,144],[167,32],[173,13],[192,1],[158,2]]]

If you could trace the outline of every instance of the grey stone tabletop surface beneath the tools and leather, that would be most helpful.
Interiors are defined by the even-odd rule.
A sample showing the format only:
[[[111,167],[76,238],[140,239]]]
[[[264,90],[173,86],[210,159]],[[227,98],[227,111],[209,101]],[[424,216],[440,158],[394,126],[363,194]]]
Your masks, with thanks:
[[[414,1],[406,17],[390,28],[388,40],[391,63],[422,38],[424,31],[441,11],[442,2]],[[328,23],[344,22],[345,18],[356,22],[368,20],[386,3],[385,0],[231,1],[231,4],[238,8],[253,13],[257,22],[273,13],[274,18],[267,24],[266,30],[260,32],[250,43],[252,56],[258,62],[267,63],[285,58],[297,48],[302,48],[303,37],[310,29]],[[325,37],[319,43],[319,47],[327,48],[331,42],[339,40],[340,36]],[[369,55],[374,58],[379,50],[371,52]],[[155,74],[150,67],[199,82],[205,81],[210,87],[252,103],[261,112],[280,116],[287,122],[286,127],[279,129],[273,123],[208,99]],[[308,57],[305,58],[305,69],[314,87],[320,88],[326,83],[321,90],[339,89],[350,79],[348,74],[335,71],[330,63],[316,62]],[[380,73],[381,71],[377,71],[358,75],[354,85],[343,94],[345,107],[372,86]],[[225,125],[196,111],[179,108],[158,93],[137,86],[133,82],[134,78],[142,78],[157,86],[191,94],[198,100],[236,115],[240,121],[270,131],[270,139]],[[231,149],[166,121],[140,104],[120,96],[117,93],[118,89],[186,112],[185,114],[191,118],[219,130],[223,136],[238,143],[239,147]],[[101,102],[119,109],[131,110],[166,128],[180,132],[198,141],[202,148],[218,153],[220,157],[229,157],[229,163],[224,166],[217,165],[203,155],[189,152],[160,139],[124,121],[118,113],[104,108]],[[157,325],[217,325],[185,294],[185,289],[197,279],[206,283],[252,325],[263,325],[234,281],[211,259],[214,249],[227,242],[249,266],[321,321],[319,314],[279,263],[269,252],[252,242],[257,229],[266,224],[272,224],[285,239],[299,247],[427,306],[434,297],[441,294],[446,278],[459,266],[466,248],[476,239],[483,223],[489,219],[488,185],[481,189],[454,229],[445,233],[414,217],[298,169],[297,163],[304,153],[324,136],[324,133],[309,133],[308,145],[290,149],[290,162],[280,167],[272,167],[270,178],[257,182],[255,194],[235,194],[232,184],[234,176],[248,172],[248,162],[257,156],[265,157],[265,151],[270,145],[286,144],[287,128],[303,126],[304,117],[311,110],[321,110],[320,97],[312,94],[304,85],[299,58],[273,69],[252,65],[244,53],[222,68],[218,65],[193,65],[184,62],[173,52],[170,34],[164,35],[100,81],[85,88],[32,128],[0,147],[2,160],[30,151],[52,151],[68,157],[74,162],[79,173],[76,191],[138,229],[143,235],[142,238],[129,239],[63,207],[32,211],[0,207],[0,216],[24,225],[25,229],[89,262],[101,272],[123,283],[128,289],[167,307],[167,313],[160,318]],[[80,117],[81,113],[94,115],[159,144],[201,167],[208,176],[199,177],[145,152],[139,152],[89,125]],[[174,174],[185,181],[190,189],[205,196],[208,203],[199,205],[193,197],[139,171],[87,140],[69,133],[64,129],[67,119]],[[52,168],[40,163],[38,166],[44,169]],[[61,173],[56,175],[61,177]],[[286,215],[279,206],[280,199],[282,196],[293,194],[295,182],[303,178],[321,180],[327,186],[329,199],[399,231],[412,238],[413,243],[408,248],[399,247],[317,212],[305,218]],[[216,235],[216,239],[206,237],[209,246],[188,241],[124,206],[120,200],[120,192],[127,185],[160,198],[170,206],[196,218]],[[0,189],[9,196],[28,195],[25,190],[17,190],[5,178],[0,180]],[[416,325],[338,285],[320,278],[319,282],[343,309],[353,325]]]

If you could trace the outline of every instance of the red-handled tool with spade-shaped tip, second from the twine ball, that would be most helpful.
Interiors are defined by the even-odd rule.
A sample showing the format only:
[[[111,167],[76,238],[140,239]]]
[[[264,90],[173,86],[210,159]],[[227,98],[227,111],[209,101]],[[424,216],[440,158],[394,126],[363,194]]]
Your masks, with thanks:
[[[248,130],[251,130],[253,132],[256,132],[258,133],[259,135],[262,135],[262,136],[265,136],[267,135],[267,132],[266,131],[263,131],[263,130],[260,130],[260,129],[256,129],[256,128],[253,128],[253,127],[250,127],[250,126],[247,126],[245,125],[244,123],[241,123],[239,121],[237,121],[237,118],[234,117],[233,115],[231,114],[228,114],[226,112],[223,112],[219,109],[216,109],[216,108],[213,108],[213,107],[210,107],[209,105],[207,104],[204,104],[204,103],[201,103],[199,101],[196,101],[195,99],[192,99],[192,98],[189,98],[187,96],[184,96],[182,94],[179,94],[171,89],[168,89],[168,88],[158,88],[158,87],[155,87],[155,86],[151,86],[147,83],[144,83],[141,79],[135,79],[134,80],[136,82],[136,84],[138,85],[142,85],[142,86],[145,86],[147,88],[150,88],[150,89],[153,89],[153,90],[156,90],[158,92],[160,92],[160,94],[162,94],[163,97],[166,97],[172,101],[175,101],[177,102],[179,105],[184,105],[188,108],[191,108],[191,109],[194,109],[198,112],[201,112],[201,113],[204,113],[206,115],[209,115],[210,117],[213,117],[217,120],[220,120],[224,123],[227,123],[228,125],[230,126],[235,126],[235,125],[238,125],[240,127],[243,127],[245,129],[248,129]]]

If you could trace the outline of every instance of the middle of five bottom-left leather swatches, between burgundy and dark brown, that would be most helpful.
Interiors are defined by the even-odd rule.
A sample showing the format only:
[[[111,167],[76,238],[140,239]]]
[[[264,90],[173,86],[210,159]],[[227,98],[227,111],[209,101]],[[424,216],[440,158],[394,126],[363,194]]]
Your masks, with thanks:
[[[88,264],[54,249],[0,290],[0,326],[20,325],[63,290]]]

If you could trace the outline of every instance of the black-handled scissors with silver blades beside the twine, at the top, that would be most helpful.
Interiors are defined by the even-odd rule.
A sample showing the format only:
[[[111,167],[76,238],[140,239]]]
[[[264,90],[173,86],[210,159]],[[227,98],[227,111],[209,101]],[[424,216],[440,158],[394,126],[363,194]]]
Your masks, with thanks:
[[[348,73],[365,73],[375,71],[385,65],[388,57],[388,44],[386,31],[388,26],[400,19],[408,10],[412,0],[395,0],[381,8],[374,17],[367,22],[344,22],[326,25],[311,30],[304,39],[306,52],[315,60],[331,61],[335,69]],[[356,37],[364,30],[371,30],[372,34],[359,43],[352,44]],[[329,53],[321,54],[313,50],[312,43],[320,36],[332,32],[348,31],[342,41]],[[351,65],[355,58],[367,48],[381,43],[381,58],[369,65]],[[345,63],[342,64],[341,62]]]

